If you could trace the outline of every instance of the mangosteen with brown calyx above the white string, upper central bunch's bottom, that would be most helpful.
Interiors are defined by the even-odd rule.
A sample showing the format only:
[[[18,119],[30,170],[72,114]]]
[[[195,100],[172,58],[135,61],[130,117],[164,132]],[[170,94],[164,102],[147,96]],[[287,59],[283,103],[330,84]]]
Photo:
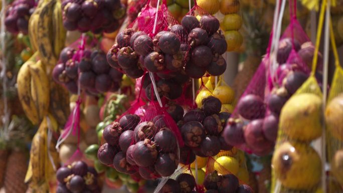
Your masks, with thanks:
[[[144,58],[144,67],[149,72],[158,72],[164,69],[164,56],[158,52],[151,52]]]

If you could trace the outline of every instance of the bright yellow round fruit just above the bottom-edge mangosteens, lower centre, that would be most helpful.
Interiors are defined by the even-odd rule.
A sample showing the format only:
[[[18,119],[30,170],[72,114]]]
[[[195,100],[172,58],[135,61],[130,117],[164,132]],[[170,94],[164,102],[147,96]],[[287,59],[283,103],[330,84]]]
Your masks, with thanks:
[[[237,159],[229,156],[221,156],[216,159],[217,162],[214,164],[214,169],[221,173],[223,167],[230,171],[232,174],[237,175],[239,169],[239,163]]]

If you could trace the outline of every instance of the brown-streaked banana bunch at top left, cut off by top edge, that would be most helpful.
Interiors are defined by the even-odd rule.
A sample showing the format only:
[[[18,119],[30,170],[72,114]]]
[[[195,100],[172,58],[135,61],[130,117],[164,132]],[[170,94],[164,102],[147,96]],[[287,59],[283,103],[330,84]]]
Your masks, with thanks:
[[[34,51],[39,51],[47,72],[52,71],[64,48],[61,0],[40,0],[29,20],[29,37]]]

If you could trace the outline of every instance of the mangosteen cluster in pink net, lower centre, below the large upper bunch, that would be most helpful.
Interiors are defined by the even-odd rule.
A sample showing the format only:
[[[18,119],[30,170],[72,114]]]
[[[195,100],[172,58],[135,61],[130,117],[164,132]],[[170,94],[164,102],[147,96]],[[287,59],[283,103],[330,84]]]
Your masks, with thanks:
[[[126,114],[106,126],[99,160],[117,171],[144,179],[169,176],[177,169],[177,138],[162,115],[141,122],[138,115]]]

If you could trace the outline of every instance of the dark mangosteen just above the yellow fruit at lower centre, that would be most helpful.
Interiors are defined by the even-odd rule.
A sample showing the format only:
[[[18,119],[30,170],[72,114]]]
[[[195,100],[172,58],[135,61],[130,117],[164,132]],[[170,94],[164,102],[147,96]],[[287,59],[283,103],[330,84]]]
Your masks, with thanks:
[[[219,139],[214,135],[206,136],[200,145],[201,151],[208,157],[217,155],[220,147]]]

